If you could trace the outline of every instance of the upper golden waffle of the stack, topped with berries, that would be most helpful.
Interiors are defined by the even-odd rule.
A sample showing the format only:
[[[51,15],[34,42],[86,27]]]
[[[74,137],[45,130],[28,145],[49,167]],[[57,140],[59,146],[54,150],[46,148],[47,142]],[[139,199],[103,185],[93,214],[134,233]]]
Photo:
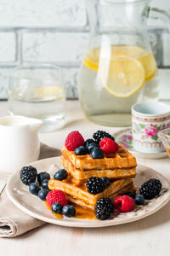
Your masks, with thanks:
[[[76,155],[65,147],[61,150],[61,163],[76,179],[88,177],[131,178],[136,176],[136,159],[119,145],[116,154],[105,154],[103,159],[93,159],[90,154]]]

